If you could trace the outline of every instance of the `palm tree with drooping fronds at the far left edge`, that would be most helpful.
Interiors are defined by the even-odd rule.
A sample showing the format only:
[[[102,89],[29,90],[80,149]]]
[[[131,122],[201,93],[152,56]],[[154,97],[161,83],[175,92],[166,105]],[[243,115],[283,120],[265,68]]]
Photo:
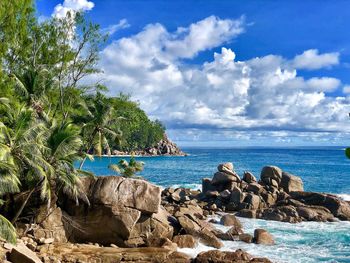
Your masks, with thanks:
[[[12,104],[3,118],[6,125],[0,122],[0,155],[3,167],[7,168],[9,175],[12,174],[12,180],[18,176],[22,182],[22,190],[28,189],[12,222],[17,220],[35,190],[41,189],[43,199],[48,197],[45,182],[54,174],[53,167],[42,155],[46,127],[34,115],[33,109]],[[17,176],[13,176],[14,173]]]

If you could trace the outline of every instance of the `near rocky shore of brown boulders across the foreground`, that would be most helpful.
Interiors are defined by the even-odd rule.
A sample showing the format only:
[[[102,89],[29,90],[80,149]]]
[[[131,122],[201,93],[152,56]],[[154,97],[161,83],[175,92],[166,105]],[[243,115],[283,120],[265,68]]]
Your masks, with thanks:
[[[302,180],[266,166],[260,179],[242,178],[231,163],[218,166],[203,191],[167,188],[119,176],[85,177],[79,202],[61,192],[47,212],[36,204],[34,217],[17,224],[18,242],[0,241],[2,262],[270,262],[237,250],[224,252],[223,240],[273,246],[264,229],[245,233],[239,217],[290,223],[350,219],[350,205],[330,194],[303,191]],[[211,219],[219,214],[220,220]],[[229,226],[226,232],[214,224]],[[178,251],[198,243],[213,250],[195,258]]]

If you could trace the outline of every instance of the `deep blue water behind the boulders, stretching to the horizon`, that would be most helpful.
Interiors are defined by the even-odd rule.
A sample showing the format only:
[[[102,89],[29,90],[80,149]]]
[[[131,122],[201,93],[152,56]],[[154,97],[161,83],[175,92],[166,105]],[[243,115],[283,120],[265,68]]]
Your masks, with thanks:
[[[141,173],[147,180],[164,187],[195,186],[203,177],[212,177],[222,162],[233,162],[242,174],[248,170],[257,177],[265,165],[277,165],[284,171],[301,176],[305,190],[350,194],[350,160],[340,147],[334,148],[237,148],[184,149],[187,157],[139,157],[145,162]],[[95,158],[84,168],[96,175],[113,174],[107,167],[120,158]],[[127,159],[127,158],[126,158]]]

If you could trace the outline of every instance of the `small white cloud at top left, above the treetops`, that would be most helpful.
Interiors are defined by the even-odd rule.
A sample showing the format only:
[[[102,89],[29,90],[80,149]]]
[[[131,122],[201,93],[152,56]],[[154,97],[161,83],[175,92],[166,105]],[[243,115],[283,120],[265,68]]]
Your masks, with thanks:
[[[88,0],[64,0],[63,4],[55,6],[52,16],[64,18],[68,12],[89,11],[95,4]]]

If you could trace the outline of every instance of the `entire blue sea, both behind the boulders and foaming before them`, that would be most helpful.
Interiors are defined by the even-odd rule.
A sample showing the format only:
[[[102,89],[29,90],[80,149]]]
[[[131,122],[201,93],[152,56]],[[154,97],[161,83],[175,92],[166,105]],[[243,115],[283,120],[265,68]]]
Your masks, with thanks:
[[[235,171],[242,175],[252,172],[257,178],[263,166],[276,165],[283,171],[300,176],[305,191],[337,194],[350,201],[350,160],[344,147],[297,148],[184,148],[188,156],[136,157],[144,162],[139,175],[161,187],[201,188],[201,179],[211,178],[217,165],[232,162]],[[120,157],[101,157],[87,161],[84,169],[100,175],[112,175],[109,164]],[[128,159],[127,157],[124,159]],[[246,244],[240,241],[224,241],[221,250],[244,249],[254,256],[268,257],[273,262],[349,262],[350,222],[303,222],[298,224],[240,218],[246,233],[256,228],[268,230],[276,245]],[[224,226],[217,228],[226,230]],[[179,249],[195,256],[210,250],[203,244],[194,249]]]

